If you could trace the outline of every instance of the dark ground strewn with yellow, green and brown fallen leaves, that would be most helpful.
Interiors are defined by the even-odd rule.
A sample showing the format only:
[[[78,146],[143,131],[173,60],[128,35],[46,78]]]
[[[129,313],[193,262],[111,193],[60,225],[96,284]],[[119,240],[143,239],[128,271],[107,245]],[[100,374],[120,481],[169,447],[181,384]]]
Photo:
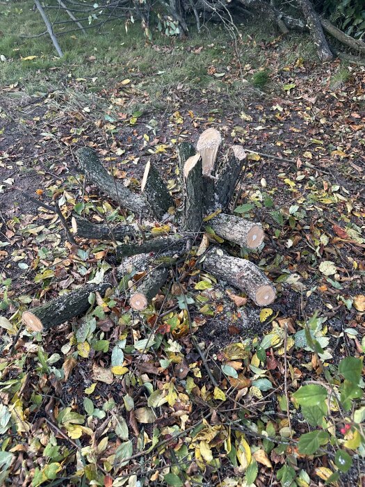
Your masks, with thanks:
[[[149,49],[168,58],[179,46]],[[189,49],[201,61],[207,48]],[[260,49],[266,65],[213,59],[204,69],[220,90],[181,79],[163,111],[131,111],[151,101],[133,65],[97,93],[81,77],[40,97],[22,82],[3,86],[1,484],[364,482],[365,69],[295,55],[282,65],[279,39],[241,49]],[[70,244],[58,216],[17,189],[58,202],[66,218],[133,222],[83,182],[76,148],[95,147],[136,192],[151,159],[178,204],[177,144],[208,127],[247,150],[232,210],[266,232],[257,252],[221,243],[267,273],[275,303],[259,309],[201,271],[202,232],[145,312],[117,288],[47,334],[24,328],[24,310],[102,281],[115,251],[109,241]],[[218,238],[209,222],[205,234]]]

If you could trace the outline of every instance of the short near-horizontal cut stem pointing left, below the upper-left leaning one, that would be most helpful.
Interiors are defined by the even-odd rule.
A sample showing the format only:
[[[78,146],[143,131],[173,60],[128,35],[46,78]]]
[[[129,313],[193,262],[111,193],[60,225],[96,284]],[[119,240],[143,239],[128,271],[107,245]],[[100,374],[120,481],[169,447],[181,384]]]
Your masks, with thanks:
[[[137,225],[127,225],[127,223],[120,223],[118,225],[111,225],[106,223],[91,223],[86,218],[79,215],[72,215],[72,229],[77,237],[93,240],[119,240],[122,241],[124,237],[132,237],[138,234]]]

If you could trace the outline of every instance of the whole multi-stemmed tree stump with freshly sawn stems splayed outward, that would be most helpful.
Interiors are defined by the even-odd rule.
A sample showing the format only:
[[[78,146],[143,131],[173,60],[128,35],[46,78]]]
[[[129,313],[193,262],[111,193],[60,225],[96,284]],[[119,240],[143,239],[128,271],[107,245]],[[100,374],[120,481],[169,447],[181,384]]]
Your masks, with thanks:
[[[24,312],[26,326],[31,330],[47,330],[85,314],[90,307],[90,293],[104,296],[118,283],[121,289],[121,280],[127,282],[124,292],[131,308],[145,310],[165,285],[172,267],[184,262],[192,248],[198,248],[204,225],[209,225],[210,233],[220,240],[250,249],[261,246],[264,237],[261,225],[229,214],[229,203],[245,163],[245,151],[234,145],[227,154],[218,157],[220,144],[220,133],[213,128],[203,132],[196,149],[188,142],[180,143],[182,202],[179,208],[175,207],[159,171],[151,162],[145,167],[141,193],[136,194],[106,170],[95,150],[91,147],[79,149],[77,161],[86,179],[120,207],[132,211],[139,223],[95,224],[74,214],[72,229],[76,237],[113,241],[117,244],[120,264],[106,275],[104,282],[86,283]],[[166,237],[146,237],[156,222],[168,226],[170,232]],[[274,301],[272,283],[249,260],[233,257],[216,244],[205,246],[204,253],[197,258],[204,271],[245,292],[257,305],[269,305]]]

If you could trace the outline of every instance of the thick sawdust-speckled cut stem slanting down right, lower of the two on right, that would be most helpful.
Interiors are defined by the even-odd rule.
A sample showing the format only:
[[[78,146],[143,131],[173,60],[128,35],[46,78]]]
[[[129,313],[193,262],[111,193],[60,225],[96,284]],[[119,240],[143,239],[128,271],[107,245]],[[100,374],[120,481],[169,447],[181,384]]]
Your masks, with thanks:
[[[275,287],[249,260],[227,255],[221,248],[209,249],[202,259],[204,270],[244,291],[258,306],[273,303]]]

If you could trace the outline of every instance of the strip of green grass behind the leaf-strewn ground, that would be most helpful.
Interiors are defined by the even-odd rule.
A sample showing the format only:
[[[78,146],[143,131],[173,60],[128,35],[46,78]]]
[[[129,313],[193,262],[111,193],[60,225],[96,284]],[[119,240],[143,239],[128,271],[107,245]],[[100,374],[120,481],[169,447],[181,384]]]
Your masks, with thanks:
[[[56,15],[57,11],[52,10],[51,13]],[[192,30],[187,40],[156,33],[153,45],[146,42],[139,25],[129,26],[127,33],[123,22],[111,22],[102,29],[88,29],[85,35],[79,31],[62,35],[60,31],[57,35],[65,56],[58,58],[48,35],[21,37],[38,35],[45,30],[31,0],[1,5],[0,20],[3,34],[0,37],[0,54],[6,58],[0,64],[0,86],[18,83],[26,95],[39,96],[49,90],[64,92],[72,81],[80,79],[82,93],[71,93],[67,98],[73,103],[83,104],[85,101],[78,101],[75,97],[97,93],[128,78],[133,88],[149,95],[151,109],[163,109],[170,92],[178,86],[183,86],[184,90],[206,89],[213,97],[224,93],[236,108],[243,104],[239,79],[225,83],[225,79],[209,73],[213,66],[217,74],[227,74],[229,66],[236,65],[232,39],[222,26],[209,26],[200,35]],[[63,29],[72,28],[72,24],[67,24]],[[260,43],[273,40],[273,34],[264,29],[258,30],[257,26],[245,25],[241,30],[243,42],[238,47],[241,65],[252,65],[252,69],[257,71],[250,77],[252,85],[263,88],[269,81],[269,75],[266,51]],[[257,42],[246,44],[249,36]],[[300,45],[295,38],[294,42]],[[304,44],[302,50],[307,52],[309,42]],[[198,51],[201,46],[204,49]],[[280,62],[285,63],[286,58],[289,61],[293,56],[290,38],[286,38],[281,49],[284,54]],[[74,85],[72,89],[75,89]],[[248,91],[246,83],[245,93]],[[7,96],[16,95],[8,92]],[[129,111],[134,109],[136,106],[129,106]]]

